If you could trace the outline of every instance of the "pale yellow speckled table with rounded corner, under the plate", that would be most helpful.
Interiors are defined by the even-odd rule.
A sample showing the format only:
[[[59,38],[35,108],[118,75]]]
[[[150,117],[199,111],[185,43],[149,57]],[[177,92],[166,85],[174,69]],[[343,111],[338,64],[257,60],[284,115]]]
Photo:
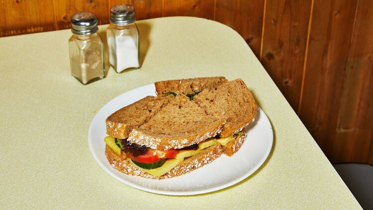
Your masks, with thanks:
[[[137,24],[141,69],[110,68],[86,86],[70,75],[70,30],[0,38],[0,209],[361,208],[237,32],[194,17]],[[155,81],[210,76],[242,78],[271,120],[274,146],[256,173],[217,192],[164,196],[117,181],[93,159],[88,128],[108,101]]]

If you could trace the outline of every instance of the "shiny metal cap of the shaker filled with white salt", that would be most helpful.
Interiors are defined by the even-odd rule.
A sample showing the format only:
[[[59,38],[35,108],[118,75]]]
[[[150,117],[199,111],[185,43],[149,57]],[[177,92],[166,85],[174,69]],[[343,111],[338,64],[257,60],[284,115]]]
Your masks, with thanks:
[[[135,20],[135,8],[130,4],[117,4],[110,8],[111,23],[127,25]]]

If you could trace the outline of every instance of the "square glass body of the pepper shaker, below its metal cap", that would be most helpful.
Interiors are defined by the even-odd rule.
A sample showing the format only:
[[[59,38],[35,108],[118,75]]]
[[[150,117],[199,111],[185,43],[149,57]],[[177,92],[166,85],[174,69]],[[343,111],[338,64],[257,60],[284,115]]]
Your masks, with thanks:
[[[82,84],[104,77],[103,43],[97,33],[69,39],[71,74]]]

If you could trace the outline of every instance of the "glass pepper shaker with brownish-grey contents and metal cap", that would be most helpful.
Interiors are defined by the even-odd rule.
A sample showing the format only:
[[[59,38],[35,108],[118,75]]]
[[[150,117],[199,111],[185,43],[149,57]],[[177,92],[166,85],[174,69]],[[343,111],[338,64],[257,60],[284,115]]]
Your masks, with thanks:
[[[92,12],[71,17],[73,35],[69,39],[71,74],[86,85],[105,73],[103,43],[97,34],[97,18]]]

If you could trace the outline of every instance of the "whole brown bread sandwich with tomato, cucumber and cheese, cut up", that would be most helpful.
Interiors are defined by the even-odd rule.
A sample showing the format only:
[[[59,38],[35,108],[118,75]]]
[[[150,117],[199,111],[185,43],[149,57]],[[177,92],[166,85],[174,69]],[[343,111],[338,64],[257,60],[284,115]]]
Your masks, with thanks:
[[[155,83],[147,96],[106,118],[105,155],[118,171],[166,179],[203,167],[242,146],[257,105],[241,79]]]

